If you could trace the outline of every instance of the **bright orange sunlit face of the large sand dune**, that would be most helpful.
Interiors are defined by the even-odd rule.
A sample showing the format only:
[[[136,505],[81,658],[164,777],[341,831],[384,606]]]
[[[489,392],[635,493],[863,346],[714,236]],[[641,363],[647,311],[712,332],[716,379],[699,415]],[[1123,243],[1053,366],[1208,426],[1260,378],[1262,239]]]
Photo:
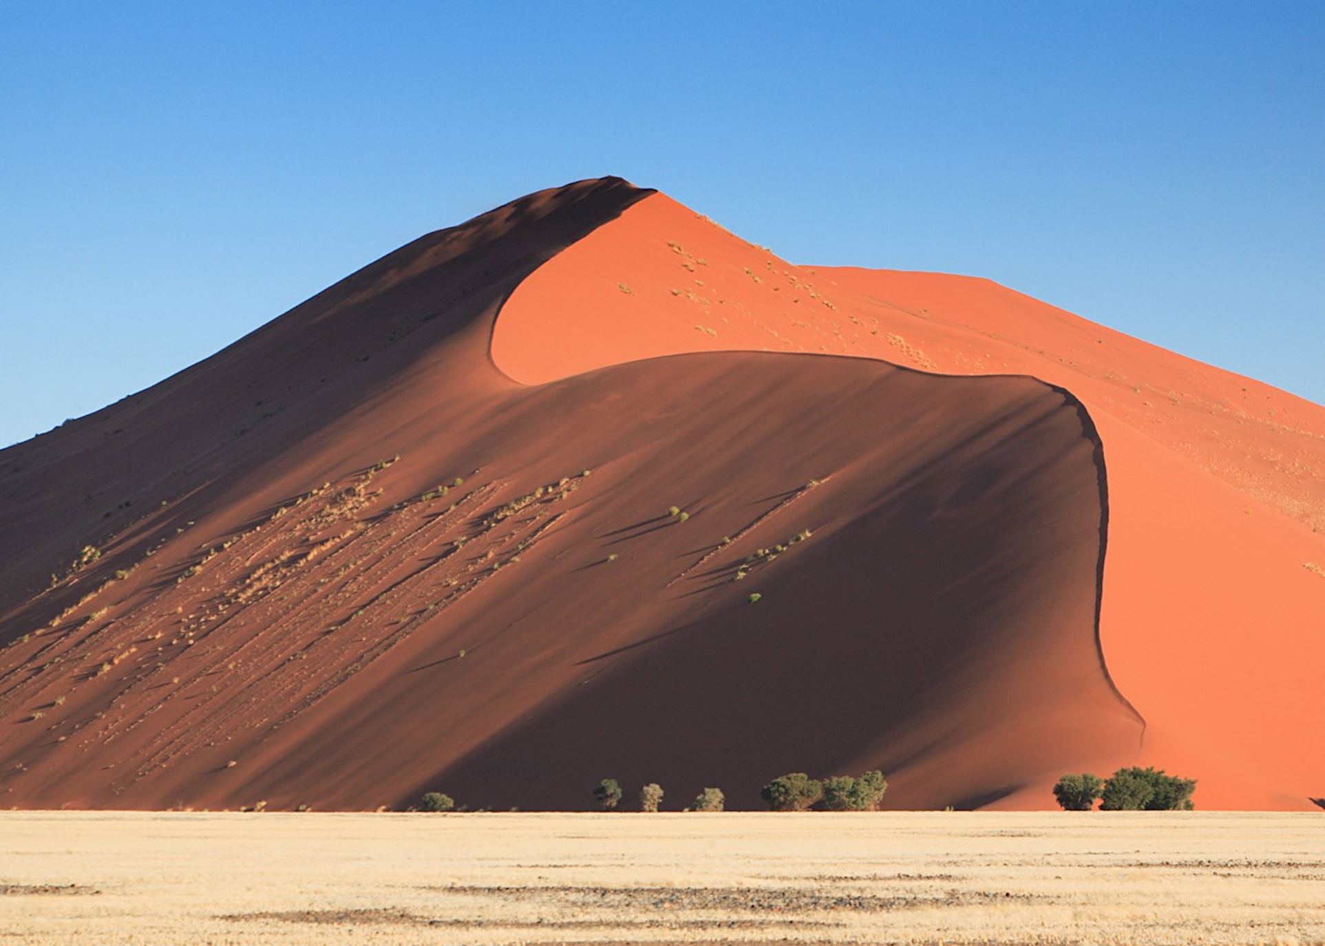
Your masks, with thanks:
[[[1310,807],[1325,409],[987,280],[792,266],[665,195],[533,273],[492,339],[525,383],[751,348],[1072,391],[1109,452],[1100,640],[1149,723],[1134,759],[1199,778],[1202,807]],[[1043,788],[1008,803],[1044,807]]]

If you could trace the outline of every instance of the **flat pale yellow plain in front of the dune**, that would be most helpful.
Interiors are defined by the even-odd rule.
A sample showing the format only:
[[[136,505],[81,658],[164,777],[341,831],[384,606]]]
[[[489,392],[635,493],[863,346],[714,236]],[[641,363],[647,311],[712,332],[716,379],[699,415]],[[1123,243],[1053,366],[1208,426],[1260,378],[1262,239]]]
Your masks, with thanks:
[[[1325,814],[4,812],[0,941],[1317,943]]]

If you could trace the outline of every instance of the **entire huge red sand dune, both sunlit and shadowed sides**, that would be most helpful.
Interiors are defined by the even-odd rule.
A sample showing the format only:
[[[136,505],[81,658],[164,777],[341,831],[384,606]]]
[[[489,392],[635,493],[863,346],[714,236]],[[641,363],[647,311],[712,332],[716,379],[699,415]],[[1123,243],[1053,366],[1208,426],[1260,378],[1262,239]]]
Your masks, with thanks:
[[[0,804],[882,767],[1044,807],[1140,758],[1306,807],[1322,413],[617,179],[531,195],[0,452]]]

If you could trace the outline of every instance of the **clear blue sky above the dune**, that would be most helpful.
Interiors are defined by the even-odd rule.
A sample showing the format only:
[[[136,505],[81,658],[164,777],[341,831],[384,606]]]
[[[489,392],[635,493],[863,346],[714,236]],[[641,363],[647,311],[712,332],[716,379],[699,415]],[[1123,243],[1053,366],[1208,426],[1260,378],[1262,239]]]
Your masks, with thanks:
[[[1325,401],[1325,3],[0,0],[0,444],[617,174]]]

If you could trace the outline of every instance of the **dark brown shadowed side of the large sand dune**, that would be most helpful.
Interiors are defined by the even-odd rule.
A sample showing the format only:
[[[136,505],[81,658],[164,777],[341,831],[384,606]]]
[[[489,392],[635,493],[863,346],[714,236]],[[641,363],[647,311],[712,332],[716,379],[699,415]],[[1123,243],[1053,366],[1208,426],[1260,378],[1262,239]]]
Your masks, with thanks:
[[[0,452],[0,798],[579,808],[613,775],[758,807],[780,771],[882,767],[893,807],[978,806],[1128,758],[1102,461],[1061,390],[497,370],[511,290],[648,195],[429,235]]]

